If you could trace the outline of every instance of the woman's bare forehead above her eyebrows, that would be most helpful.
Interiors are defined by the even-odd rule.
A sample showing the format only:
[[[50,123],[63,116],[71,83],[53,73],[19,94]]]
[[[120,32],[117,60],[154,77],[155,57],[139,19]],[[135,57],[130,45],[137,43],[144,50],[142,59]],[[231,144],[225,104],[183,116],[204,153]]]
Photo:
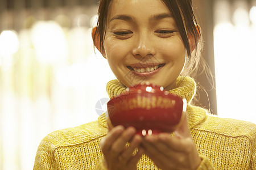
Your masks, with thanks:
[[[108,20],[115,15],[134,15],[143,18],[164,13],[170,14],[170,11],[161,0],[113,0],[109,7]]]

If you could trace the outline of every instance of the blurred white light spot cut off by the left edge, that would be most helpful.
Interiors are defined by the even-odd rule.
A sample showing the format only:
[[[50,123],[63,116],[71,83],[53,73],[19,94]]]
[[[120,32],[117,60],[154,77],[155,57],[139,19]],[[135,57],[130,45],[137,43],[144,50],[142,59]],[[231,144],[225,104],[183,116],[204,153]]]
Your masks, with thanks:
[[[0,56],[10,56],[19,49],[19,39],[15,31],[3,31],[0,34]]]

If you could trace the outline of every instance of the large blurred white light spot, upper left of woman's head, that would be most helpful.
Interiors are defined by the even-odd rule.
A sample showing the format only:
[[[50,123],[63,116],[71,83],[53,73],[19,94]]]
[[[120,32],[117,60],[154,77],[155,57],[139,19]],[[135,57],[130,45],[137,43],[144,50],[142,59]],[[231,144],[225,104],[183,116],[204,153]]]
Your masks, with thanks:
[[[56,22],[35,23],[31,39],[39,62],[55,63],[68,55],[67,40],[63,29]]]

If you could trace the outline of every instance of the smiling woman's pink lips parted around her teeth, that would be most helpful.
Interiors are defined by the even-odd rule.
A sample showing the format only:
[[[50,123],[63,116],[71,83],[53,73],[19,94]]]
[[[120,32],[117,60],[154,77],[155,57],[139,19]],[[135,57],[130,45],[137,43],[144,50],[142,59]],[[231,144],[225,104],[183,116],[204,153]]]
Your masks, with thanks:
[[[136,71],[134,71],[134,70],[130,70],[130,69],[129,69],[129,70],[130,70],[131,73],[133,73],[134,75],[141,76],[141,77],[145,78],[145,77],[152,76],[152,75],[158,73],[158,72],[164,67],[165,64],[160,64],[160,65],[162,65],[162,66],[160,66],[158,69],[156,69],[156,70],[154,70],[154,71],[150,71],[150,72],[144,72],[144,73],[138,73],[138,72],[136,72]],[[135,65],[129,65],[129,66],[131,66],[131,67],[137,67],[137,68],[145,68],[145,67],[159,66],[159,63],[158,63],[158,64],[155,64],[155,65],[149,65],[149,64],[147,63],[147,65],[143,65],[143,66],[142,66],[142,64],[139,64],[139,65],[138,65],[138,64],[135,64]]]

